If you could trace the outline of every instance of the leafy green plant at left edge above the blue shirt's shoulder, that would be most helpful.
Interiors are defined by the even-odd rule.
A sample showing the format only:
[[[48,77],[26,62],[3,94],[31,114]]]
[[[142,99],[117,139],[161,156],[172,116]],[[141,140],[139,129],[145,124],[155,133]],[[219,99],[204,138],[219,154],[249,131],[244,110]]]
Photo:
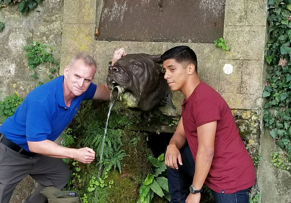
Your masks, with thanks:
[[[23,98],[17,93],[14,93],[12,96],[6,96],[0,102],[0,123],[3,123],[9,116],[12,116],[22,102]]]

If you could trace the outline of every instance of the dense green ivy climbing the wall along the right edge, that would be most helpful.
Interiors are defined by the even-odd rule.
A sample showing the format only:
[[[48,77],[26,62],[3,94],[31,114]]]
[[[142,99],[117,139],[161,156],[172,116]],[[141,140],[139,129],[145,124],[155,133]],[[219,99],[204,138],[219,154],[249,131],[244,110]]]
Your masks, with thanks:
[[[291,160],[291,0],[269,0],[265,126]]]

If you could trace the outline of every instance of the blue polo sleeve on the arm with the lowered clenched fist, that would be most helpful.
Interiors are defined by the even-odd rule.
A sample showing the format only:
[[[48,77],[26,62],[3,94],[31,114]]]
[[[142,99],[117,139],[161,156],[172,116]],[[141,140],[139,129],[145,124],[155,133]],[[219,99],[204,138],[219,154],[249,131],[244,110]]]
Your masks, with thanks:
[[[51,134],[52,117],[44,104],[31,102],[27,106],[26,117],[26,139],[31,142],[38,142],[47,139]]]

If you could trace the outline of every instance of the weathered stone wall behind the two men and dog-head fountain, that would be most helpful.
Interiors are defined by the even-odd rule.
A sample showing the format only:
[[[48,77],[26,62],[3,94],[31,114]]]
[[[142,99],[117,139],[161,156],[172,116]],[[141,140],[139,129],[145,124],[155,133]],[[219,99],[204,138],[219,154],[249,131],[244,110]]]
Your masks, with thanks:
[[[25,96],[36,86],[23,50],[30,41],[38,40],[54,47],[54,58],[61,64],[60,75],[77,52],[93,55],[98,63],[94,82],[100,84],[105,83],[108,61],[120,47],[125,47],[127,53],[162,54],[173,46],[188,45],[197,54],[200,78],[216,89],[233,109],[251,155],[262,154],[255,186],[255,190],[262,193],[262,202],[290,202],[291,189],[287,187],[290,173],[273,167],[270,153],[278,148],[262,127],[267,0],[226,0],[223,37],[230,46],[229,52],[215,48],[214,44],[203,43],[97,41],[94,34],[99,26],[102,5],[103,0],[46,0],[26,15],[19,13],[16,6],[2,8],[0,21],[5,23],[5,28],[0,32],[0,100],[15,91]],[[226,74],[225,64],[233,66],[232,73]],[[175,92],[174,98],[179,107],[183,96]],[[178,116],[180,110],[177,108],[173,115]],[[165,128],[156,129],[166,132]],[[261,132],[265,133],[261,135]],[[20,190],[15,190],[11,202],[21,202],[31,193],[34,183],[26,179],[22,184],[18,187]],[[270,192],[269,185],[284,189]],[[23,192],[24,186],[27,191]]]

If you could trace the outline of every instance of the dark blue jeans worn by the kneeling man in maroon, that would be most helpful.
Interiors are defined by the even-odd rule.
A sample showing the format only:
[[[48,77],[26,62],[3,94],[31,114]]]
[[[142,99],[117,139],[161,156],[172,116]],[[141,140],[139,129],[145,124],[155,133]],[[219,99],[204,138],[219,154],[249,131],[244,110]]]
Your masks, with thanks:
[[[171,203],[185,203],[186,198],[190,193],[189,187],[192,184],[194,177],[195,162],[189,146],[186,145],[180,149],[180,153],[183,165],[180,165],[179,162],[177,162],[178,170],[167,167]],[[211,191],[216,203],[249,203],[250,190],[251,187],[245,190],[239,190],[232,194]]]

